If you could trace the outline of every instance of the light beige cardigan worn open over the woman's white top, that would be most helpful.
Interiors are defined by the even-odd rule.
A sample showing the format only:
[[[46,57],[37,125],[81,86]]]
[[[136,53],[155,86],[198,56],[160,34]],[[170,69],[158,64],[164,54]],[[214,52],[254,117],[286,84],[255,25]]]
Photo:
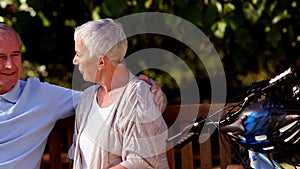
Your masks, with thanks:
[[[105,121],[107,125],[99,126],[98,119],[92,120],[95,127],[90,129],[91,138],[97,145],[92,154],[92,169],[106,169],[118,163],[128,169],[169,168],[165,144],[168,128],[161,111],[153,102],[150,86],[132,74],[130,79],[117,97],[117,104]],[[78,141],[98,88],[94,85],[86,89],[76,109],[73,145],[69,150],[74,169],[82,168]]]

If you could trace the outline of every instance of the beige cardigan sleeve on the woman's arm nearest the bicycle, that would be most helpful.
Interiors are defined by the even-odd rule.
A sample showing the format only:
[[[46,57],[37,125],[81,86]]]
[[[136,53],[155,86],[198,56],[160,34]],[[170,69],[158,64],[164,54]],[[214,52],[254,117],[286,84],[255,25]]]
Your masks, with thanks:
[[[119,121],[123,135],[121,165],[130,169],[156,168],[161,154],[166,152],[167,126],[150,87],[144,82],[137,85]]]

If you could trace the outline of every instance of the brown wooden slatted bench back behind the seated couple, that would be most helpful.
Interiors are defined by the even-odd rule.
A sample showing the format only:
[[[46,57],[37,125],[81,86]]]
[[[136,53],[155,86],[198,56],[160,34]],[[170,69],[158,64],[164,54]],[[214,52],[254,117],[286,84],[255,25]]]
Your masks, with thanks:
[[[167,106],[163,117],[169,126],[170,135],[174,135],[191,124],[191,119],[206,118],[209,112],[216,112],[220,106],[218,104]],[[74,117],[62,119],[56,123],[48,138],[41,168],[72,168],[67,159],[67,148],[72,140],[73,123]],[[201,144],[191,141],[182,148],[171,148],[167,151],[170,169],[212,169],[216,165],[221,169],[242,168],[231,165],[230,152],[224,148],[224,143],[220,142],[217,130],[213,132],[213,135],[201,133],[200,137],[205,137],[206,141]]]

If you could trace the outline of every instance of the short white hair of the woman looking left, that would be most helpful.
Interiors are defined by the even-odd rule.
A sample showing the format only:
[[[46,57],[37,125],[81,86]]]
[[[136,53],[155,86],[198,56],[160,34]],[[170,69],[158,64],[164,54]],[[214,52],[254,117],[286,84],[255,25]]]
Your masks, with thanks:
[[[74,40],[84,45],[91,57],[105,55],[117,63],[123,62],[128,47],[122,25],[109,18],[89,21],[77,27]]]

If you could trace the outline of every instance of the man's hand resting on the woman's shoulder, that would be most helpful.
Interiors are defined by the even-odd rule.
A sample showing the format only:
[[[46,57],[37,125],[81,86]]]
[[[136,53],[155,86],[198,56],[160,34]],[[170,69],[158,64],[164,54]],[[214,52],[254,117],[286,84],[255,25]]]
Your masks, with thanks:
[[[159,83],[151,78],[149,78],[146,75],[139,75],[138,77],[140,80],[145,81],[146,83],[148,83],[149,85],[151,85],[151,93],[154,93],[154,103],[156,104],[156,106],[163,112],[164,108],[165,108],[165,97],[163,94],[163,91],[161,90],[161,87],[159,85]]]

